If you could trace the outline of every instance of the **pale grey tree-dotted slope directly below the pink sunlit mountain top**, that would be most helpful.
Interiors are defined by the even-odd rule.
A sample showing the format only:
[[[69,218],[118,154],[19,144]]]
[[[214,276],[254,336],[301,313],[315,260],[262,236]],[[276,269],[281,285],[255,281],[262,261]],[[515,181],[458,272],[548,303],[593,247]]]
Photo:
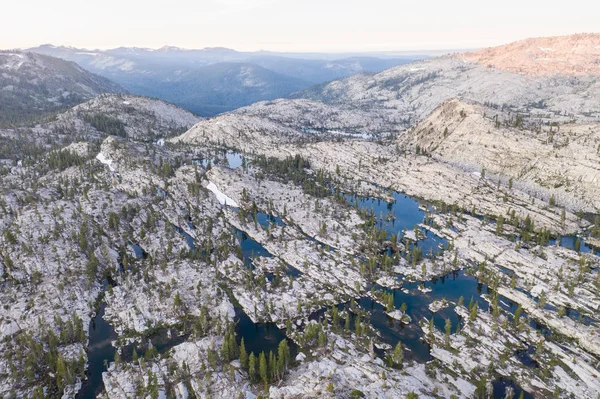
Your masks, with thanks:
[[[586,59],[596,57],[597,51],[595,47],[586,47]],[[400,121],[404,127],[423,120],[451,98],[515,112],[598,120],[598,79],[598,75],[591,74],[525,75],[490,68],[468,57],[446,56],[375,75],[360,74],[336,80],[296,93],[294,97],[375,112],[384,119]]]

